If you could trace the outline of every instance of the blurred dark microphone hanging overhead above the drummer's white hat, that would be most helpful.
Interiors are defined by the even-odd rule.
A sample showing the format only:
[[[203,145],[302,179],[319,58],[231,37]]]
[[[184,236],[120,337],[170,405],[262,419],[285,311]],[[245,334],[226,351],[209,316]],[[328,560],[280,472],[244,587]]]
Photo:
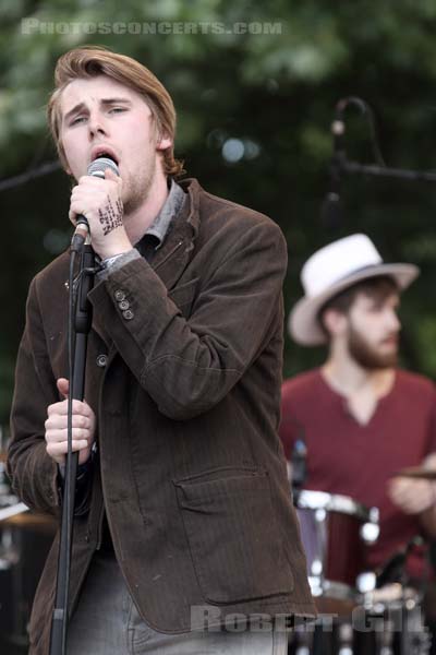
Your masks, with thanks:
[[[346,122],[343,112],[349,103],[349,98],[339,100],[336,106],[335,120],[330,130],[334,136],[334,154],[329,165],[330,189],[327,192],[322,207],[320,219],[326,227],[338,227],[342,223],[343,209],[340,199],[342,164],[346,158],[346,147],[343,135],[346,133]]]

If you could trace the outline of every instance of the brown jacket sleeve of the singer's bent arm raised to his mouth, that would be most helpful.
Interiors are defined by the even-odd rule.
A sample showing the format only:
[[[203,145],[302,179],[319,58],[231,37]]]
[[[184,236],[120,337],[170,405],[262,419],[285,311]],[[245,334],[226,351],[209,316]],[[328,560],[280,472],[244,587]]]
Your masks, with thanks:
[[[227,249],[221,245],[225,255],[208,278],[198,277],[187,319],[143,259],[113,272],[89,295],[94,315],[102,312],[117,350],[170,418],[214,407],[269,341],[287,245],[267,219],[241,231]]]

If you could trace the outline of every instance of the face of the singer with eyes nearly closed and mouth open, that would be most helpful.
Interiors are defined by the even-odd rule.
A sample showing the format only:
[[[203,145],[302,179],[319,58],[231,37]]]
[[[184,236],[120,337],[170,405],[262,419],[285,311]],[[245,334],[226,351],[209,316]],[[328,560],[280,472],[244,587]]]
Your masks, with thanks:
[[[157,142],[152,111],[143,97],[98,75],[71,82],[60,103],[68,172],[78,180],[90,162],[107,153],[120,169],[125,214],[141,206],[156,175],[162,175],[158,151],[171,144],[169,138]]]

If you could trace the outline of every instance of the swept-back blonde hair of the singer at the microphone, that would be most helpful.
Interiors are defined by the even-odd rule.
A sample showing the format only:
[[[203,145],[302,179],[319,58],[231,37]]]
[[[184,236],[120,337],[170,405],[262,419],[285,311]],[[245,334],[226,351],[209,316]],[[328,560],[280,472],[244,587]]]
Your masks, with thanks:
[[[77,79],[89,79],[97,75],[107,75],[111,80],[129,86],[147,103],[157,134],[175,135],[175,109],[171,96],[159,80],[145,66],[126,57],[111,52],[100,46],[83,46],[65,52],[58,59],[55,69],[55,91],[47,105],[47,120],[52,138],[58,148],[59,158],[66,169],[68,163],[60,138],[60,99],[62,91],[70,82]],[[179,176],[183,170],[183,163],[174,158],[173,145],[162,151],[164,172],[168,176]]]

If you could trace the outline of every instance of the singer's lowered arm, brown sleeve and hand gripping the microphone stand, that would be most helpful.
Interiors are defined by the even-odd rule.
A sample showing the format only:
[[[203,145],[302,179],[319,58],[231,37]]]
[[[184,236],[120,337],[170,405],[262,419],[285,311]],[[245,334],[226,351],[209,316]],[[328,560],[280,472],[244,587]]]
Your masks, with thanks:
[[[37,284],[31,285],[26,326],[19,349],[15,391],[11,413],[12,439],[8,473],[14,492],[35,510],[58,513],[62,495],[61,466],[66,453],[65,379],[53,379],[46,347],[37,299]],[[58,393],[59,392],[59,393]],[[89,460],[95,437],[95,415],[84,402],[73,402],[73,451],[80,450],[78,464]],[[90,467],[80,466],[77,508],[85,510]],[[86,473],[86,475],[85,475]]]

